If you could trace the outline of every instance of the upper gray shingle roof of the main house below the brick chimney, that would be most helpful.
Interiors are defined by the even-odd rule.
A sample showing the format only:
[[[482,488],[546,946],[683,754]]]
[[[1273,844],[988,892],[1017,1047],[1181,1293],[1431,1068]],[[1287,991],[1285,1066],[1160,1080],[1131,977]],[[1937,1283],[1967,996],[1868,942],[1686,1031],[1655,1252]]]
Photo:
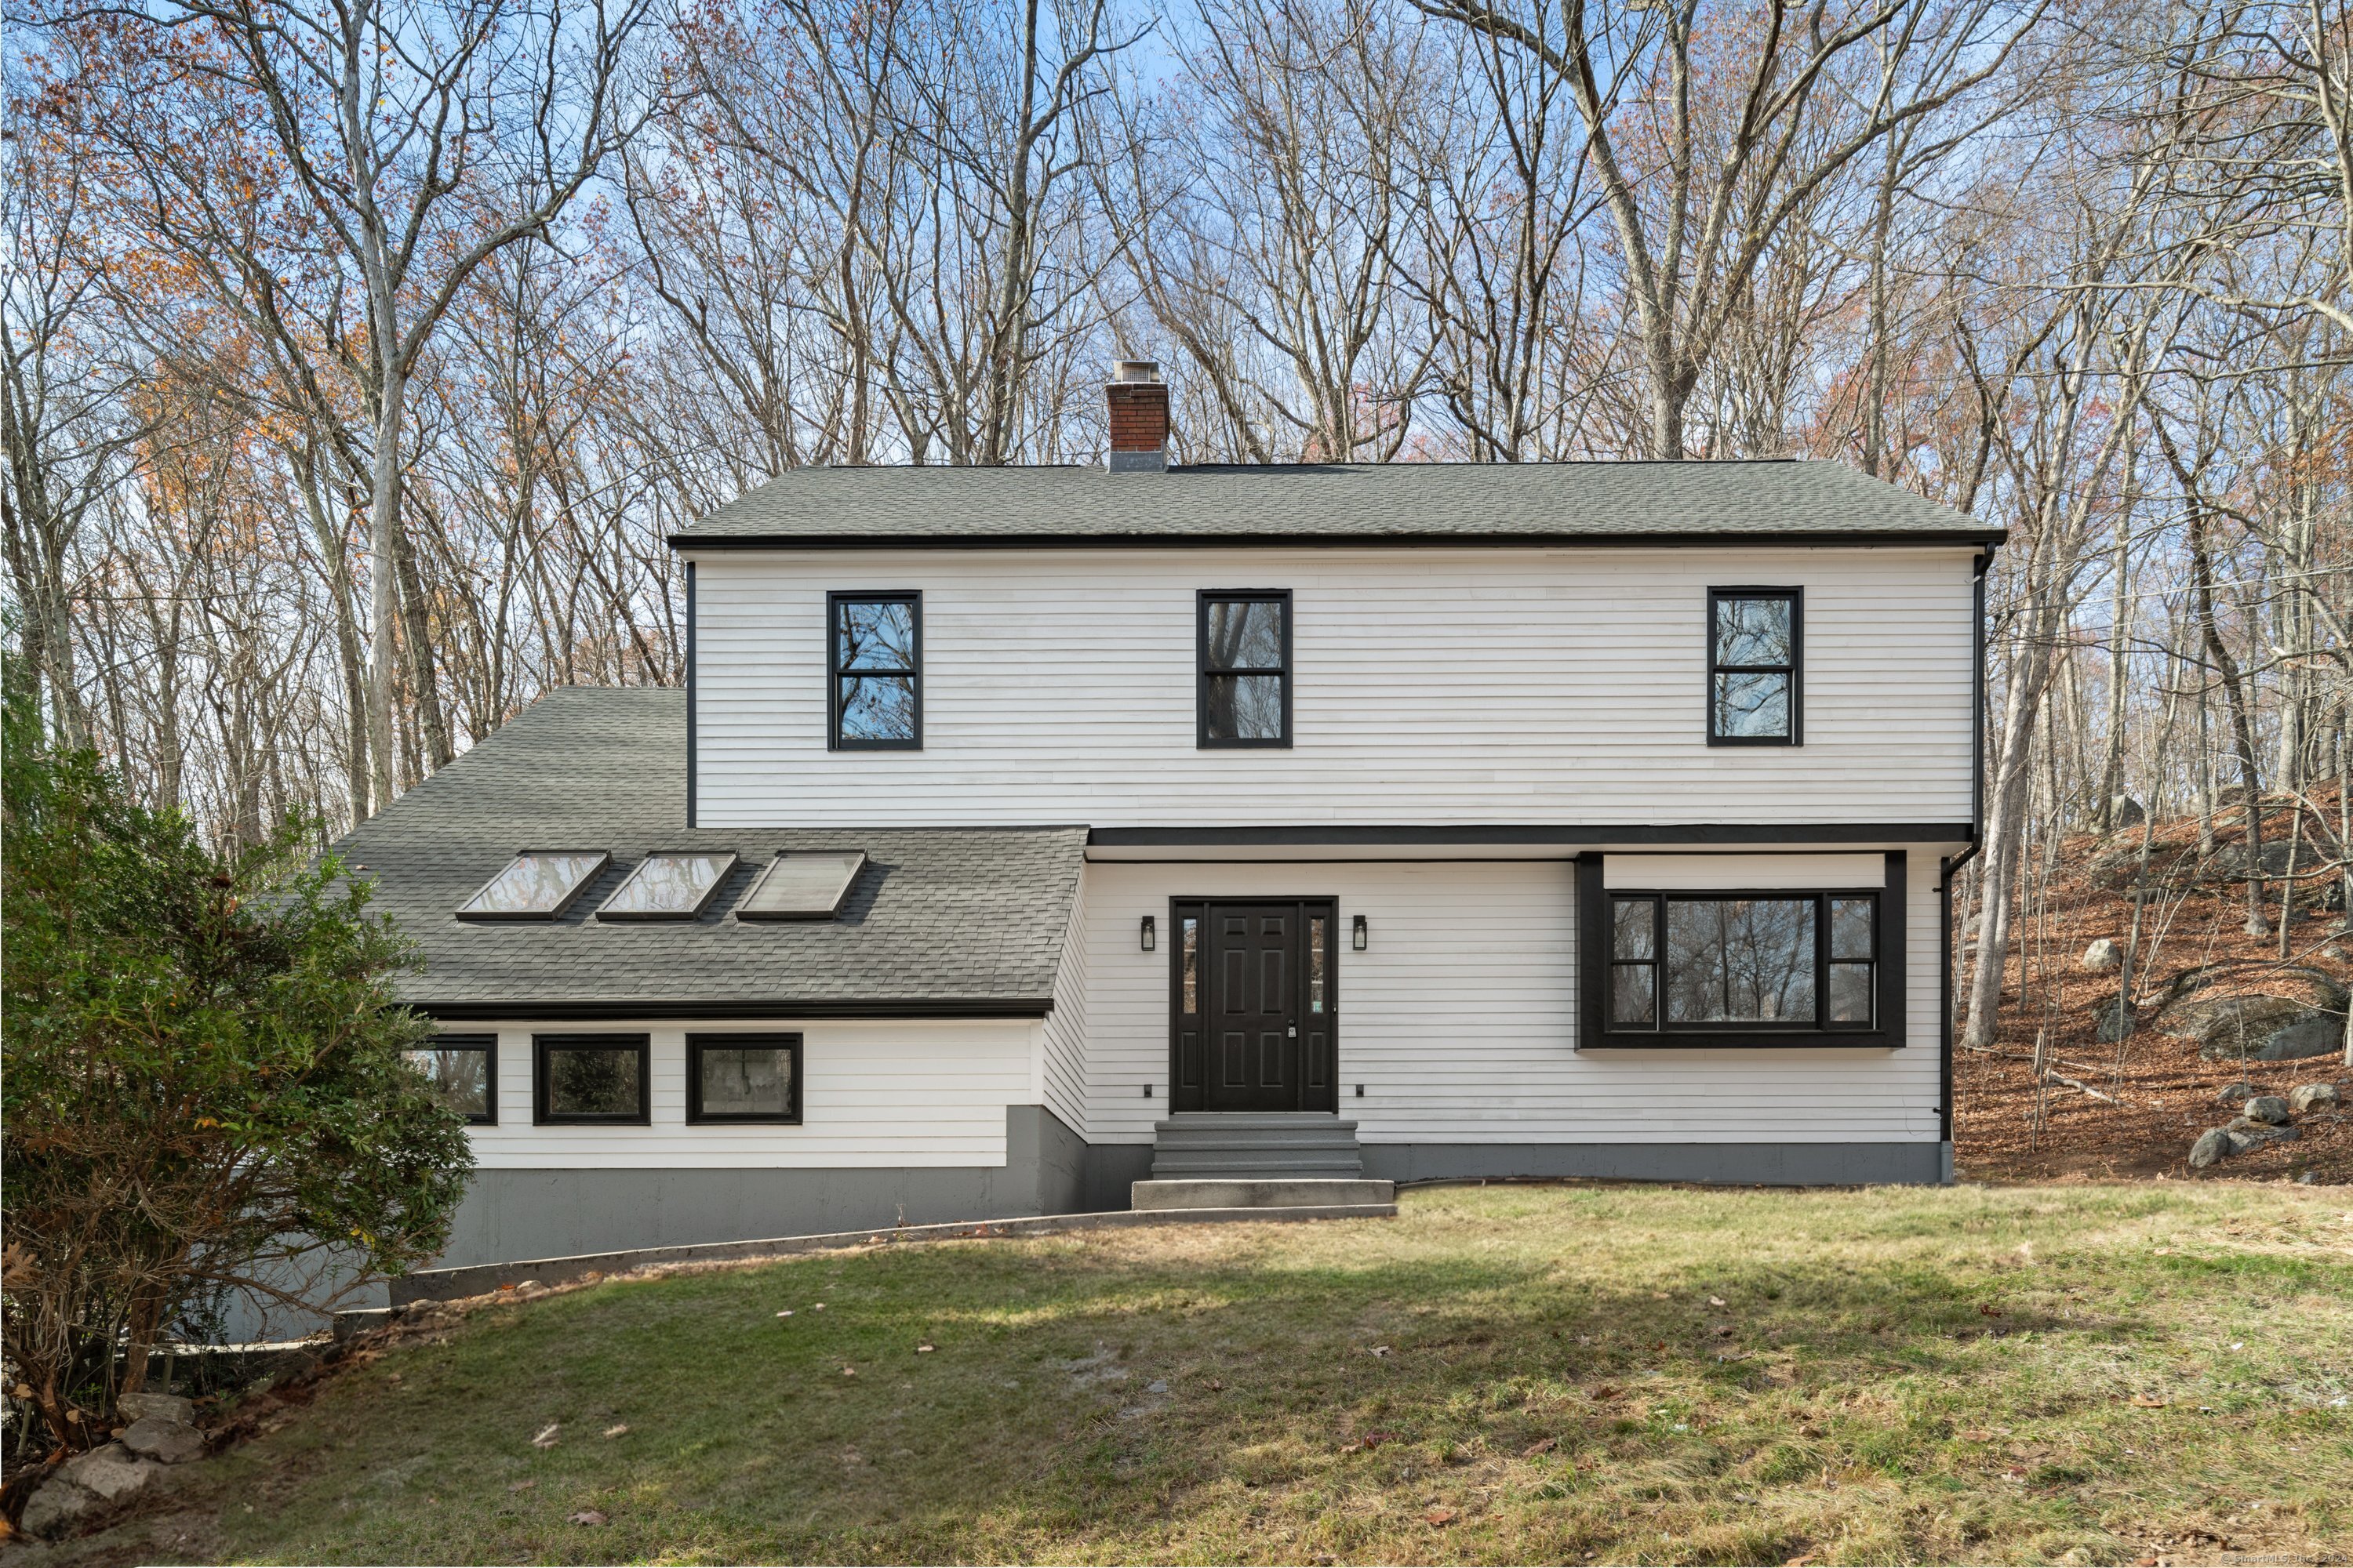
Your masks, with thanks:
[[[671,536],[755,545],[1993,543],[2002,531],[1842,463],[1292,463],[800,468]]]

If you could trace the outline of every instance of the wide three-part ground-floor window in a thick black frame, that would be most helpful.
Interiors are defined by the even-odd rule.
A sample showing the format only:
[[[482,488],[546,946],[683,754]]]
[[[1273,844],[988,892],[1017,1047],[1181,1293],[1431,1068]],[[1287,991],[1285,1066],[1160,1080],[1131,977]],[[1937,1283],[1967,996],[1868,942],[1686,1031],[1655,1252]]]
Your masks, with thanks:
[[[1885,886],[1602,886],[1584,865],[1586,1044],[1904,1044],[1904,858]],[[1598,940],[1593,940],[1598,938]]]

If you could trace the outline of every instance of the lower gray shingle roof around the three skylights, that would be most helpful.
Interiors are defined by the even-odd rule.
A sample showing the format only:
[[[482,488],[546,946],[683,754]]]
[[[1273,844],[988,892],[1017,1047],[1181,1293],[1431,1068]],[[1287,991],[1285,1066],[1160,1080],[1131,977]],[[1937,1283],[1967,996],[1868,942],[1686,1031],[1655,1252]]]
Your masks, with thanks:
[[[372,907],[424,952],[402,999],[447,1018],[1045,1011],[1085,827],[687,830],[685,757],[682,691],[565,686],[346,835]],[[614,858],[555,922],[456,919],[520,849]],[[744,860],[699,919],[595,919],[656,849]],[[734,919],[779,849],[866,851],[838,919]]]

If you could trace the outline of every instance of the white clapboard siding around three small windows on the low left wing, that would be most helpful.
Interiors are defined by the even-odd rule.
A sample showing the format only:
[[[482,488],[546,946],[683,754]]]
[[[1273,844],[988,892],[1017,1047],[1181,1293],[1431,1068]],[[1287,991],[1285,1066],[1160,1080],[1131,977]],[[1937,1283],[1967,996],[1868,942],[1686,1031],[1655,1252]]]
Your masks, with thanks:
[[[499,1023],[499,1126],[475,1126],[487,1168],[1002,1166],[1005,1107],[1035,1105],[1038,1025],[974,1023]],[[802,1037],[800,1126],[687,1126],[687,1032]],[[532,1034],[652,1034],[652,1126],[532,1126]]]

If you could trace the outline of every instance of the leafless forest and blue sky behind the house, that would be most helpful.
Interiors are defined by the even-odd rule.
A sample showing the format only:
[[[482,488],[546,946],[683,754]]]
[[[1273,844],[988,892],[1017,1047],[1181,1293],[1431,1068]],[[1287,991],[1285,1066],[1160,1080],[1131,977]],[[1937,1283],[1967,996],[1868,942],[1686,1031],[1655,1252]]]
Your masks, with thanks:
[[[551,684],[675,682],[675,524],[1096,458],[1132,353],[1184,461],[1798,454],[2007,524],[1993,952],[2122,797],[2268,795],[2339,882],[2344,0],[1158,5],[12,7],[49,722],[332,832]]]

